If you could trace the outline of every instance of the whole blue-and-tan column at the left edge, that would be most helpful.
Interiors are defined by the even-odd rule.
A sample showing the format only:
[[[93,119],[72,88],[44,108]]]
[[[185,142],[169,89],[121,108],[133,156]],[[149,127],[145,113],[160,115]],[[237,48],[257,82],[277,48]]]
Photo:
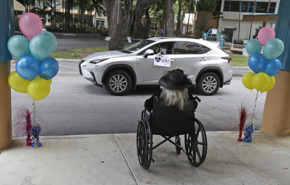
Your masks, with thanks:
[[[11,88],[8,84],[11,54],[7,42],[14,35],[13,0],[0,1],[0,150],[12,141],[11,133]]]

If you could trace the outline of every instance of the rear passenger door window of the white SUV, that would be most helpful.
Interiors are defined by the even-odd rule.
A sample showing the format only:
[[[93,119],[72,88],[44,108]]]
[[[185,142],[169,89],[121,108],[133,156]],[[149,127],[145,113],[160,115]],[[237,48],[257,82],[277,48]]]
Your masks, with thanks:
[[[195,42],[178,42],[178,53],[176,54],[204,54],[204,52]]]

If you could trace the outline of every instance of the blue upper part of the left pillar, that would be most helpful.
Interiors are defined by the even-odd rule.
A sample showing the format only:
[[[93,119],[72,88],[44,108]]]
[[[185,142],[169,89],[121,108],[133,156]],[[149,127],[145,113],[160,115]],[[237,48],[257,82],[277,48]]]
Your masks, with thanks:
[[[0,1],[0,62],[12,59],[7,42],[15,33],[13,0]]]

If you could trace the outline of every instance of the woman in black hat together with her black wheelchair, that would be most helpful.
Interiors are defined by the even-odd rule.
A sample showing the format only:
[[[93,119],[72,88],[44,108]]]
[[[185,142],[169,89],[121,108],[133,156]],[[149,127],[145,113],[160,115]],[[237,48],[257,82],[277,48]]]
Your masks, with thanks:
[[[159,89],[145,101],[145,109],[137,128],[137,155],[139,164],[148,169],[152,151],[166,141],[175,145],[176,153],[181,150],[190,164],[201,165],[206,156],[207,139],[203,125],[195,118],[198,97],[193,97],[188,88],[193,84],[183,71],[176,69],[159,79]],[[153,134],[165,138],[153,146]],[[181,147],[179,135],[184,135],[185,149]],[[175,137],[175,142],[170,140]]]

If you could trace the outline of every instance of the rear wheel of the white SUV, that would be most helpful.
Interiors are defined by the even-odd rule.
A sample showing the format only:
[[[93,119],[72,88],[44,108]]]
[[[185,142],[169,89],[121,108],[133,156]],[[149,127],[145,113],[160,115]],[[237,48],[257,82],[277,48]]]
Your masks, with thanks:
[[[198,78],[196,88],[200,94],[213,95],[220,87],[220,79],[213,72],[206,72]]]

